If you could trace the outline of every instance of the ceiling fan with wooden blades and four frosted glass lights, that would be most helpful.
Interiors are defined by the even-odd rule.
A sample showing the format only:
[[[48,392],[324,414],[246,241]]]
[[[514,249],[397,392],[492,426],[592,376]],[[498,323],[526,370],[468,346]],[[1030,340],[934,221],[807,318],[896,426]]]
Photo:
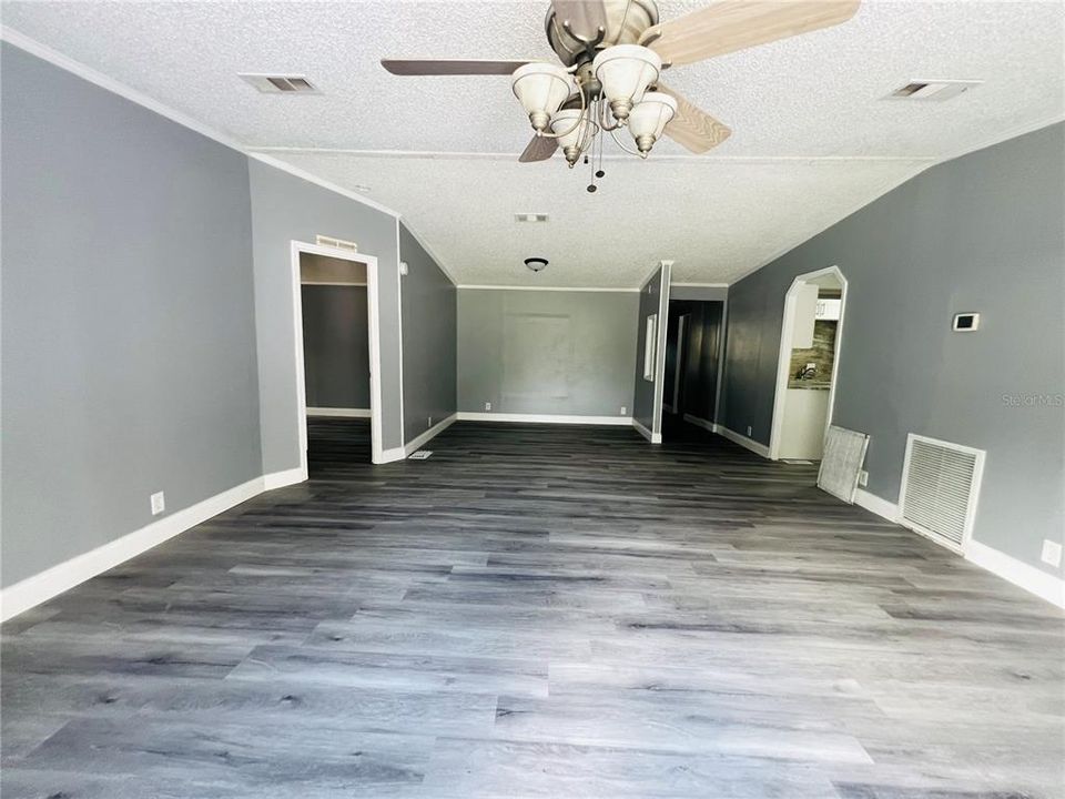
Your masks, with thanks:
[[[661,22],[653,0],[552,0],[545,29],[561,67],[464,59],[381,63],[397,75],[510,75],[535,132],[523,162],[544,161],[560,144],[574,166],[581,155],[587,162],[597,141],[601,158],[602,132],[640,158],[662,134],[703,153],[732,131],[662,83],[663,70],[840,24],[859,2],[719,0]],[[625,128],[635,150],[618,135]],[[595,182],[588,190],[595,191]]]

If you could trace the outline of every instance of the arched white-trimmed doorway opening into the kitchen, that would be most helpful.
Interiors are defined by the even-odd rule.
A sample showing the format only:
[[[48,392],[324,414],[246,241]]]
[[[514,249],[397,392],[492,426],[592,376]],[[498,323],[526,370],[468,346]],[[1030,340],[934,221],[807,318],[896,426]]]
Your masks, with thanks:
[[[832,423],[846,279],[836,266],[795,277],[784,297],[769,456],[820,461]]]

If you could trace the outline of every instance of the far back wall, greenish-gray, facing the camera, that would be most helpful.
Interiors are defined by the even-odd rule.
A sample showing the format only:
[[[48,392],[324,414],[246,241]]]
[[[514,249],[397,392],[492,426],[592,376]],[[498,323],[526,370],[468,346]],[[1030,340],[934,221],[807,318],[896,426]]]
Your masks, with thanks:
[[[632,411],[633,292],[458,292],[458,409]]]

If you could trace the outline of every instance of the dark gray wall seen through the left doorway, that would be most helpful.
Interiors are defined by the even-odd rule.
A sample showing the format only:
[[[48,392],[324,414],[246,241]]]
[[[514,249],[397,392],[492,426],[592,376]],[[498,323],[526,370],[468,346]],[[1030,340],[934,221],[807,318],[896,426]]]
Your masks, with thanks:
[[[307,407],[369,408],[366,287],[304,285]]]

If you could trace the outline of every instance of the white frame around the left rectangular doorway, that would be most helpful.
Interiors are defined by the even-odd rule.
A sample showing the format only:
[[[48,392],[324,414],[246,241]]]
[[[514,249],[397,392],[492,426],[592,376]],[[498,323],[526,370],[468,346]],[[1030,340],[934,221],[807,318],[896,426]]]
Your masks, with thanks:
[[[292,318],[296,346],[296,424],[300,431],[300,471],[307,478],[307,375],[303,361],[303,289],[300,256],[326,255],[366,266],[366,309],[369,338],[369,437],[374,463],[383,463],[381,441],[381,315],[377,295],[377,259],[373,255],[292,241]]]

